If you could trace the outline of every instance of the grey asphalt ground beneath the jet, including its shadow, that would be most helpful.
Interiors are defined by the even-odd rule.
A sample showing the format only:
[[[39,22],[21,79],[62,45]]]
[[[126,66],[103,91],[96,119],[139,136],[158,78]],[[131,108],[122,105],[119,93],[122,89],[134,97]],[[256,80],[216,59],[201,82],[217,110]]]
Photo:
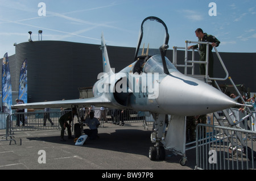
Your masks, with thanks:
[[[85,127],[84,127],[85,128]],[[60,130],[14,132],[14,141],[0,141],[1,170],[193,170],[195,149],[186,152],[188,161],[181,166],[180,155],[166,150],[164,161],[151,161],[148,150],[152,126],[142,123],[124,126],[105,123],[98,128],[100,138],[76,146],[73,140],[60,141]],[[72,132],[73,133],[73,132]],[[5,136],[5,130],[0,131]],[[3,138],[5,140],[5,137]],[[43,152],[42,152],[43,150]],[[44,163],[45,161],[45,163]],[[43,162],[43,163],[42,163]]]

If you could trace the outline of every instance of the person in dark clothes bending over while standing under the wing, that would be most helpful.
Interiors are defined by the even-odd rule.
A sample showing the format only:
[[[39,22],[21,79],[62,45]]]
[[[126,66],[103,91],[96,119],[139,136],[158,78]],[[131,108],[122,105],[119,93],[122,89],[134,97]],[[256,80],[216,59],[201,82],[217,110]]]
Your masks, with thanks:
[[[64,140],[64,131],[67,128],[68,129],[68,138],[73,139],[72,133],[71,133],[71,122],[73,121],[73,117],[76,115],[76,108],[72,108],[72,112],[69,111],[62,115],[59,119],[61,131],[60,131],[60,141],[66,141]],[[69,124],[68,124],[69,121]]]

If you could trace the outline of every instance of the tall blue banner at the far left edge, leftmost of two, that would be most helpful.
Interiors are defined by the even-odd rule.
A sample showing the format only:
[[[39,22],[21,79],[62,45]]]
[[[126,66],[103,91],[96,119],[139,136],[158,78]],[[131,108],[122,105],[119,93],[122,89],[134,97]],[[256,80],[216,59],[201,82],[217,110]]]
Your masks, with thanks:
[[[5,56],[3,56],[2,62],[2,100],[3,112],[11,114],[13,95],[11,94],[11,74],[7,53],[5,54]]]

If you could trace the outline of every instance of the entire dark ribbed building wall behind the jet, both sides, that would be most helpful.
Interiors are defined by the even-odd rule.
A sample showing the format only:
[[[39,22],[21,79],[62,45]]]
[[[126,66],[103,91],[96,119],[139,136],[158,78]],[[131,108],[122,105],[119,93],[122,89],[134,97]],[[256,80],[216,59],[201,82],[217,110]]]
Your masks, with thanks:
[[[115,73],[134,60],[135,48],[108,46],[107,49],[110,65],[115,68]],[[98,74],[103,71],[100,45],[67,41],[34,41],[16,45],[15,51],[15,55],[9,57],[12,89],[13,91],[19,89],[20,67],[27,58],[28,103],[77,99],[78,88],[93,86]],[[256,53],[220,54],[234,83],[245,84],[246,87],[250,87],[251,92],[256,92],[254,72]],[[172,61],[172,50],[167,50],[167,57]],[[178,64],[184,64],[184,51],[178,51],[177,59]],[[197,53],[196,60],[199,60]],[[184,72],[182,68],[178,69]],[[191,71],[189,70],[188,73]],[[195,73],[199,74],[198,65]],[[226,76],[215,53],[214,75],[218,78]],[[229,81],[223,83],[230,84]]]

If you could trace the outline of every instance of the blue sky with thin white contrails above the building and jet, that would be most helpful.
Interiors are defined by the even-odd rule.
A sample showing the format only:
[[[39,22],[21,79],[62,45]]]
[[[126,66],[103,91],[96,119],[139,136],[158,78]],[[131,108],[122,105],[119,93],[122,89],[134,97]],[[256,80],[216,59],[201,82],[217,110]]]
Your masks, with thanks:
[[[38,13],[46,5],[46,16]],[[216,3],[210,16],[209,3]],[[40,11],[43,12],[43,11]],[[137,47],[144,18],[162,19],[170,34],[170,49],[185,47],[185,40],[197,41],[195,30],[214,35],[221,41],[219,52],[256,52],[255,0],[0,0],[0,57],[15,53],[14,43],[43,40]]]

